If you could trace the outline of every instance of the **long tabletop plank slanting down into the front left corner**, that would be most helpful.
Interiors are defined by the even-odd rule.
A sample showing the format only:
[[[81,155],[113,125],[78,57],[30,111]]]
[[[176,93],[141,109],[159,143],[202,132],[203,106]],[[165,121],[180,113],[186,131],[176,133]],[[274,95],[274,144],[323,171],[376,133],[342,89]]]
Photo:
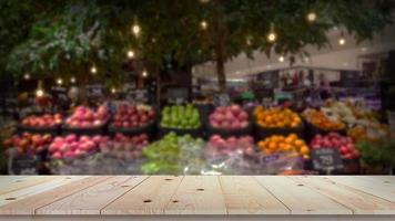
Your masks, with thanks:
[[[75,180],[52,190],[2,206],[0,207],[0,214],[34,214],[34,211],[41,207],[48,206],[51,202],[63,199],[109,178],[110,177],[95,176]]]

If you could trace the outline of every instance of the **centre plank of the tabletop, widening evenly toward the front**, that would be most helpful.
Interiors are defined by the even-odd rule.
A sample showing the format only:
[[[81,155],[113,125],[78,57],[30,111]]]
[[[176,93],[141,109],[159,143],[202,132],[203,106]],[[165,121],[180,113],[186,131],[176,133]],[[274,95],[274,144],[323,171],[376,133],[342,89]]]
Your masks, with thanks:
[[[226,214],[219,178],[216,176],[184,177],[164,210],[166,214]]]

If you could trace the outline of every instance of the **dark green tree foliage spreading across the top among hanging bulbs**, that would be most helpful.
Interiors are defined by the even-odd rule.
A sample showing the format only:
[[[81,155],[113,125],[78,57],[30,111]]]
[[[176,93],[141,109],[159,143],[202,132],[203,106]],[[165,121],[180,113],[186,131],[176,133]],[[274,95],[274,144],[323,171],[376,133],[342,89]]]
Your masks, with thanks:
[[[1,0],[8,14],[0,19],[1,70],[83,76],[95,65],[101,76],[122,82],[129,50],[156,70],[171,60],[213,60],[223,67],[255,50],[298,54],[307,44],[328,46],[326,32],[333,27],[359,42],[372,39],[391,23],[392,7],[386,0]],[[315,22],[306,20],[312,11]],[[139,36],[131,31],[134,23],[141,27]],[[275,43],[266,39],[271,27]]]

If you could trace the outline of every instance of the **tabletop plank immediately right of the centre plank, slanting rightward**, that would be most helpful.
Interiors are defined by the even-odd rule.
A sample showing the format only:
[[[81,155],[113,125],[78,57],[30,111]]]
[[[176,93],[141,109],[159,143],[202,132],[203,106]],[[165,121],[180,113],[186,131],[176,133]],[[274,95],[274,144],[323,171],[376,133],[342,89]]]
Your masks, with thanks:
[[[253,177],[221,176],[229,214],[288,214],[291,211]]]

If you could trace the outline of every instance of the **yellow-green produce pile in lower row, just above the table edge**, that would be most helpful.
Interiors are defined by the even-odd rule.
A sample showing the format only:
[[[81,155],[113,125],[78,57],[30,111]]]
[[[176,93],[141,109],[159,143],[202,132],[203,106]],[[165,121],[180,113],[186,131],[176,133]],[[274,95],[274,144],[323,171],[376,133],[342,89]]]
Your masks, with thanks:
[[[203,147],[201,138],[194,139],[190,135],[178,136],[175,133],[169,133],[162,139],[152,143],[143,149],[143,156],[148,162],[142,166],[144,173],[178,173],[180,172],[180,162],[188,161],[189,154],[183,149],[195,150],[200,152]]]

